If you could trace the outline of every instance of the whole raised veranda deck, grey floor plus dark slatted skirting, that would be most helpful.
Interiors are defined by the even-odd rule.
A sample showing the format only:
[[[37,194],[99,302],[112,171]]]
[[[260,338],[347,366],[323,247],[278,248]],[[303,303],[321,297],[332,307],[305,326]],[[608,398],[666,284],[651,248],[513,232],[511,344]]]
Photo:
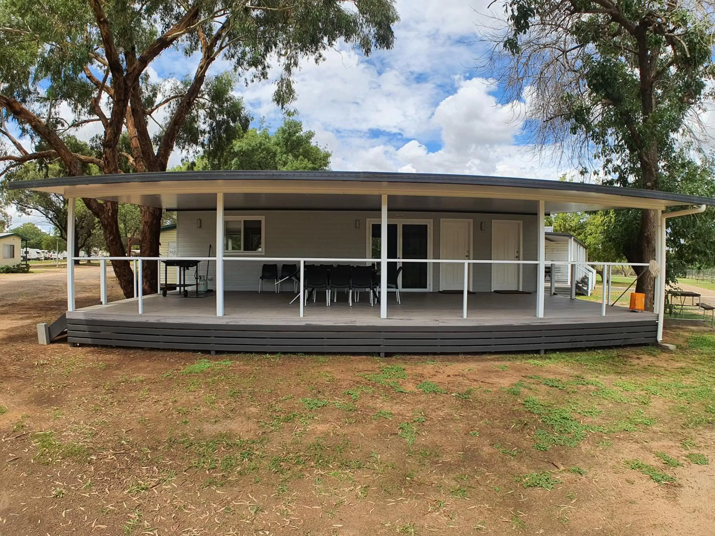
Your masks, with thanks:
[[[322,296],[323,302],[320,302]],[[534,294],[470,294],[462,318],[461,294],[389,295],[388,318],[366,294],[348,307],[338,302],[299,305],[292,292],[227,292],[225,316],[215,316],[215,297],[152,295],[67,313],[71,344],[190,349],[224,352],[465,353],[541,351],[655,342],[657,318],[623,307],[546,296],[545,317],[536,318]]]

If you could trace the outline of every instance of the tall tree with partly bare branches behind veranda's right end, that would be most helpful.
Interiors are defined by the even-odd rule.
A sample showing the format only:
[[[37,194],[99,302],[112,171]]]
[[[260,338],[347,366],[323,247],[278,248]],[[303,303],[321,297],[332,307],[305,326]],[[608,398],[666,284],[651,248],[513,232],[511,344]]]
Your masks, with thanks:
[[[525,99],[532,142],[606,184],[679,191],[669,164],[699,142],[713,79],[712,4],[697,0],[500,0],[488,65]],[[697,149],[697,147],[695,147]],[[573,159],[573,160],[572,160]],[[693,160],[693,162],[695,162]],[[625,214],[629,262],[655,256],[655,211]],[[619,229],[625,229],[619,227]],[[638,270],[640,271],[640,270]],[[652,307],[646,272],[638,292]]]

